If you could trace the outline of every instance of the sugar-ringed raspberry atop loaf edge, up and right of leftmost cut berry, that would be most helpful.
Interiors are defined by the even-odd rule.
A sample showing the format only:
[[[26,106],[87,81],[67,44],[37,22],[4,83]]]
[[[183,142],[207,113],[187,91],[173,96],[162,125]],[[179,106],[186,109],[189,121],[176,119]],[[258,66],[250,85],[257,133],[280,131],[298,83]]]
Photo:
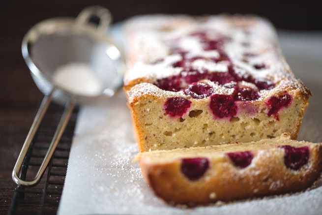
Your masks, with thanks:
[[[213,88],[205,83],[194,83],[186,87],[184,92],[193,98],[205,98],[213,93]]]

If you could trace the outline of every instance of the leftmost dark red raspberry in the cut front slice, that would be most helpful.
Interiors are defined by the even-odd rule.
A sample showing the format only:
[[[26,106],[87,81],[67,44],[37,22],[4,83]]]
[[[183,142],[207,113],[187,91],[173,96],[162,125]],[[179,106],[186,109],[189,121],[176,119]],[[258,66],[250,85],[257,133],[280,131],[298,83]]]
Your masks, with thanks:
[[[209,161],[205,157],[183,158],[181,172],[190,180],[197,180],[205,174]]]

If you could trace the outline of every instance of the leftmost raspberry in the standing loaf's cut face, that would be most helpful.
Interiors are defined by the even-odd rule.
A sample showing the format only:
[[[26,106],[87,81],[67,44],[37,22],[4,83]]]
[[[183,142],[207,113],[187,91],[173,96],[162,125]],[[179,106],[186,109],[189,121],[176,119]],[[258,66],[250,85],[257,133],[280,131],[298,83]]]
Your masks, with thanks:
[[[168,98],[164,110],[172,117],[182,117],[190,108],[191,101],[181,97]]]

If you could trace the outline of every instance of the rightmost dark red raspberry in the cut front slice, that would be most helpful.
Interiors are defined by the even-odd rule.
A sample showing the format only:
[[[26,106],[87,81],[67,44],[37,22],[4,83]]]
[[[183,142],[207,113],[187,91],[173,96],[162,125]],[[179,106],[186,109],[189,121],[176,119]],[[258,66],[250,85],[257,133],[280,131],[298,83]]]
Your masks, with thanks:
[[[309,147],[292,147],[289,145],[279,146],[285,150],[284,163],[293,170],[298,170],[309,160]]]

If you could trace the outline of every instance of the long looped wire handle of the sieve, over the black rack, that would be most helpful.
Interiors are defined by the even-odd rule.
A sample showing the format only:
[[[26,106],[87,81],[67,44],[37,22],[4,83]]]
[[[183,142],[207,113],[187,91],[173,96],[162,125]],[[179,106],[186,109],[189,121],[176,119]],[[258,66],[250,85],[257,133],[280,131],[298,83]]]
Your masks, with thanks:
[[[39,127],[41,121],[43,120],[45,113],[47,112],[47,109],[49,107],[49,104],[51,103],[54,91],[55,91],[55,89],[53,89],[48,95],[45,95],[44,98],[42,99],[42,102],[41,102],[40,107],[37,111],[35,119],[33,120],[33,123],[30,127],[30,130],[29,130],[29,133],[28,133],[27,138],[25,140],[25,143],[24,143],[24,145],[21,149],[21,152],[18,156],[15,167],[13,168],[12,179],[16,184],[23,185],[23,186],[33,186],[33,185],[36,185],[39,183],[43,173],[46,170],[46,167],[47,167],[52,155],[55,152],[56,146],[60,140],[60,137],[61,137],[63,131],[65,130],[65,127],[69,121],[70,115],[75,107],[75,104],[76,104],[75,99],[70,99],[66,103],[63,114],[59,120],[59,124],[57,126],[54,137],[52,139],[52,142],[48,148],[48,151],[44,157],[44,160],[42,161],[42,163],[39,167],[39,170],[38,170],[34,180],[28,182],[28,181],[24,181],[24,180],[20,179],[18,175],[19,175],[22,163],[26,157],[27,151],[29,150],[31,141],[32,141],[36,131],[38,130],[38,127]]]

